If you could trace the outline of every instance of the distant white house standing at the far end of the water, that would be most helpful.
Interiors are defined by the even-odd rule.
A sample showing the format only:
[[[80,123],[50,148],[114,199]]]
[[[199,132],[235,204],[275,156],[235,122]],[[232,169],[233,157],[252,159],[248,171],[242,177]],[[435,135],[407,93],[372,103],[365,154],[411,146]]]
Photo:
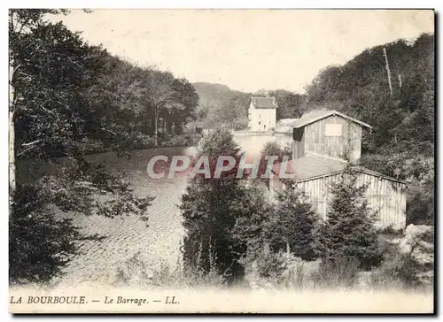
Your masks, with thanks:
[[[252,132],[268,132],[276,127],[276,97],[251,97],[249,125]]]

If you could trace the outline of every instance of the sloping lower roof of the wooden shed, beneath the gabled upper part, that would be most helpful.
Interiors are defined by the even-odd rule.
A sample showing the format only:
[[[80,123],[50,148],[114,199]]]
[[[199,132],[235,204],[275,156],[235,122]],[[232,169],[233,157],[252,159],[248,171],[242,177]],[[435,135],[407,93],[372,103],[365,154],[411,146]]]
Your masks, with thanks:
[[[280,166],[281,164],[274,165],[272,170],[273,173],[278,174],[280,172]],[[289,161],[285,173],[288,173],[291,179],[294,179],[296,181],[307,181],[314,180],[319,177],[341,173],[345,170],[345,168],[345,160],[316,155],[307,155],[306,157],[299,157]],[[407,182],[403,180],[394,179],[382,173],[376,173],[360,165],[356,165],[353,168],[360,173],[367,173],[377,177],[382,177],[386,180],[392,180],[407,184]]]

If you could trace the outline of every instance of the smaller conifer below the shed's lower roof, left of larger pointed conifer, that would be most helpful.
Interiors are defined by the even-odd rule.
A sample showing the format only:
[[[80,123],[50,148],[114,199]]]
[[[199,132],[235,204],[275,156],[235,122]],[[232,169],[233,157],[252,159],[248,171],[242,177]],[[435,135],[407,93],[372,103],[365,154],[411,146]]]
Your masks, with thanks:
[[[307,196],[288,183],[276,196],[277,203],[266,227],[265,237],[275,251],[290,250],[303,260],[315,259],[315,222]]]

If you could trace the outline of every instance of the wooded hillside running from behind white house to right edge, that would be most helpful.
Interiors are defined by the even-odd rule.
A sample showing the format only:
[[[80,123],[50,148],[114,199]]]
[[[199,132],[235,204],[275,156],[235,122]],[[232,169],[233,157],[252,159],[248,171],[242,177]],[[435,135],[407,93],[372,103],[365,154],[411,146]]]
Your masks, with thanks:
[[[384,49],[392,76],[392,95]],[[415,42],[398,40],[379,45],[362,51],[345,65],[328,66],[303,95],[282,89],[244,93],[206,82],[193,86],[199,96],[198,121],[206,127],[229,124],[245,128],[249,97],[276,96],[277,119],[298,118],[304,111],[329,108],[369,123],[374,130],[363,142],[366,154],[409,151],[433,156],[433,35],[421,35]]]

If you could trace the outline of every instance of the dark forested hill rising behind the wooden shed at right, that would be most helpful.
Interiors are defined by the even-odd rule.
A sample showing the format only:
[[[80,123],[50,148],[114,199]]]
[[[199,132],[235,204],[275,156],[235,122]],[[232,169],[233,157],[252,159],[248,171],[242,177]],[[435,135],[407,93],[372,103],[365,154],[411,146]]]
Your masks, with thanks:
[[[392,95],[385,66],[391,71]],[[374,126],[367,153],[433,155],[434,36],[364,50],[321,71],[307,87],[305,108],[334,108]]]

